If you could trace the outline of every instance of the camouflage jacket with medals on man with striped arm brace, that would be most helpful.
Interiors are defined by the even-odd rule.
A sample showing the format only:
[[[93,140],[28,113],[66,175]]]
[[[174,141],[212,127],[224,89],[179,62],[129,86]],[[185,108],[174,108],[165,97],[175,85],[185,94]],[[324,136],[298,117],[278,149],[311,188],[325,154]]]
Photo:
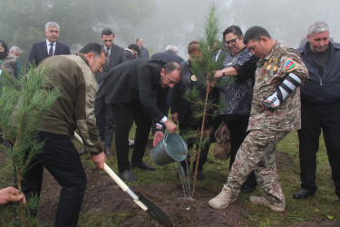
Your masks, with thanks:
[[[289,73],[296,74],[305,83],[306,65],[300,55],[286,44],[277,44],[264,59],[257,62],[255,85],[248,130],[293,131],[301,128],[300,88],[297,87],[272,113],[264,109],[264,97],[276,92]]]

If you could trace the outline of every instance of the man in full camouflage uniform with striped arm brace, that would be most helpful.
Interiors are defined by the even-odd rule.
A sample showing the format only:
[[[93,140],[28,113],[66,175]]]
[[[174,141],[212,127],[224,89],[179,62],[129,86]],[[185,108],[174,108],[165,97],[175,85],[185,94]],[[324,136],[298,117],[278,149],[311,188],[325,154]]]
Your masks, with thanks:
[[[238,149],[236,160],[222,192],[209,201],[214,209],[225,209],[235,202],[242,183],[254,171],[265,197],[250,197],[250,202],[284,212],[286,199],[278,183],[275,163],[276,144],[287,133],[300,128],[300,90],[308,73],[300,55],[272,39],[262,27],[248,29],[244,43],[257,62],[256,82],[248,123],[248,136]]]

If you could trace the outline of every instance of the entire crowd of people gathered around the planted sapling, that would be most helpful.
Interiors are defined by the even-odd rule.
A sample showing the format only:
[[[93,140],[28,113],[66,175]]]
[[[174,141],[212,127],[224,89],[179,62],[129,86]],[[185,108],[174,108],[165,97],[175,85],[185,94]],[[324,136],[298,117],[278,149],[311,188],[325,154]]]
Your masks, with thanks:
[[[112,29],[104,28],[102,44],[86,44],[71,54],[67,45],[58,42],[59,32],[59,25],[47,23],[46,40],[33,44],[29,54],[28,67],[49,68],[53,86],[61,87],[63,93],[44,118],[38,133],[45,141],[44,153],[35,157],[39,163],[25,173],[22,188],[26,198],[39,195],[46,168],[63,187],[54,224],[75,226],[86,185],[80,154],[90,153],[100,169],[106,156],[116,155],[119,173],[126,182],[136,181],[131,168],[155,171],[142,160],[150,132],[155,146],[165,129],[175,133],[178,123],[180,133],[199,129],[200,121],[193,116],[195,107],[184,93],[196,87],[204,101],[207,86],[191,68],[192,59],[201,56],[199,41],[189,42],[187,61],[172,44],[150,57],[141,38],[124,49],[113,44]],[[219,108],[218,123],[209,121],[206,126],[227,123],[231,155],[228,179],[219,195],[209,201],[212,208],[225,209],[237,200],[239,192],[253,192],[258,185],[266,195],[250,196],[250,202],[285,212],[286,198],[278,182],[275,153],[276,144],[294,130],[299,140],[301,188],[293,197],[306,199],[317,190],[316,153],[322,129],[340,201],[340,44],[329,40],[329,28],[323,22],[311,25],[306,38],[306,44],[295,50],[260,26],[250,27],[243,34],[238,25],[231,25],[223,32],[225,48],[215,56],[215,61],[221,60],[223,65],[214,77],[221,82],[230,77],[234,80],[212,89],[211,102],[224,104]],[[9,51],[0,41],[0,69],[19,78],[20,54],[19,47]],[[169,111],[173,122],[168,119]],[[137,126],[134,142],[129,139],[133,123]],[[82,151],[72,143],[75,130],[83,139]],[[192,139],[186,142],[189,148],[199,143]],[[210,143],[213,140],[203,146],[199,163],[192,163],[194,169],[198,165],[200,180],[204,179]],[[186,162],[190,163],[189,158]],[[0,202],[23,200],[23,194],[15,191],[4,194],[12,199]]]

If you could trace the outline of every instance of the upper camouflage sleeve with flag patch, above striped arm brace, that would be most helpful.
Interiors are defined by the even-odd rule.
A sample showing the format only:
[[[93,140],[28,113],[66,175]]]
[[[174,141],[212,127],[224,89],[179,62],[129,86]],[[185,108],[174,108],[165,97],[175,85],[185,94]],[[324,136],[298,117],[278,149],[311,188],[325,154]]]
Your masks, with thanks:
[[[301,79],[303,84],[307,82],[309,77],[308,70],[302,61],[300,54],[298,54],[295,50],[291,50],[286,54],[283,54],[280,60],[282,65],[282,74],[287,75],[289,73],[293,73]]]

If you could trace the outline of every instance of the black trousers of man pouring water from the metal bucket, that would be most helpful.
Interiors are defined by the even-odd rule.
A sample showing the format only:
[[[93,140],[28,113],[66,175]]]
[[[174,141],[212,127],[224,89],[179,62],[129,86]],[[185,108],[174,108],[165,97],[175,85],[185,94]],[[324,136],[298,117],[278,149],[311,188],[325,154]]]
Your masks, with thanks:
[[[134,137],[133,153],[131,163],[142,162],[145,147],[148,143],[151,130],[151,118],[142,111],[140,101],[133,101],[126,104],[112,104],[113,119],[115,122],[115,143],[120,173],[130,169],[129,163],[129,132],[134,122],[136,133]]]

